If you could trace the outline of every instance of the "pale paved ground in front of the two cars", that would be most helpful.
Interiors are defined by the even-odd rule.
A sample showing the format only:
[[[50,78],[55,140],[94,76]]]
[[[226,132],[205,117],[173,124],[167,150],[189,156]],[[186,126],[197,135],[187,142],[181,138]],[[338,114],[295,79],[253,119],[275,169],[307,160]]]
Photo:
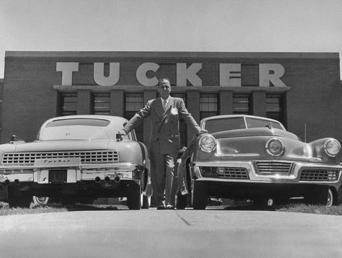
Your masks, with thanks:
[[[242,210],[3,216],[0,257],[342,257],[342,217]]]

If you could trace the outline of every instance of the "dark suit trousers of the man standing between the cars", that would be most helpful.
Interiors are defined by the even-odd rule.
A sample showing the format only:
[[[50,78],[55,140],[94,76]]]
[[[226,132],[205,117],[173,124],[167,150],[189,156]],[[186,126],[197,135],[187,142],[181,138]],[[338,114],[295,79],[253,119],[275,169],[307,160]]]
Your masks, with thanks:
[[[172,196],[172,184],[175,162],[179,150],[174,153],[160,153],[159,141],[150,145],[151,183],[153,195],[157,205],[175,205],[175,196]]]

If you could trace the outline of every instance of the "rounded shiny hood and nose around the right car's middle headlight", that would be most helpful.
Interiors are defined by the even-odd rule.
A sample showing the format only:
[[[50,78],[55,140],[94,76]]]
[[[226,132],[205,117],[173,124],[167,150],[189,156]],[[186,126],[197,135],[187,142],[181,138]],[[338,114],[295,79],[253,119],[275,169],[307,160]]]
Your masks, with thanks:
[[[212,135],[216,139],[216,149],[212,153],[204,153],[197,143],[194,161],[288,160],[336,163],[333,158],[318,157],[316,148],[318,145],[304,143],[296,135],[285,130],[252,128],[229,130]],[[267,151],[267,143],[272,138],[278,138],[284,144],[284,152],[279,156],[270,155]]]

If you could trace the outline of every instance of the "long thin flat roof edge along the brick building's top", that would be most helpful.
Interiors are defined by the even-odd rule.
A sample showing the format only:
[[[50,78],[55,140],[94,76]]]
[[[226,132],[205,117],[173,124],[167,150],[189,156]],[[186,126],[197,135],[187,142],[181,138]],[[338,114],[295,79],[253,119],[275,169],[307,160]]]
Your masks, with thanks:
[[[6,51],[12,58],[339,58],[338,52]]]

